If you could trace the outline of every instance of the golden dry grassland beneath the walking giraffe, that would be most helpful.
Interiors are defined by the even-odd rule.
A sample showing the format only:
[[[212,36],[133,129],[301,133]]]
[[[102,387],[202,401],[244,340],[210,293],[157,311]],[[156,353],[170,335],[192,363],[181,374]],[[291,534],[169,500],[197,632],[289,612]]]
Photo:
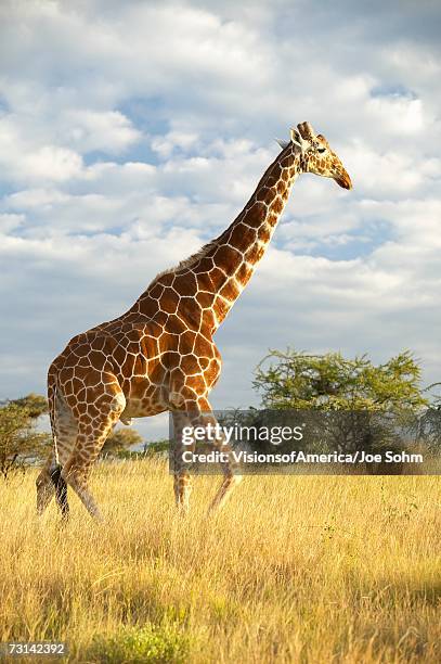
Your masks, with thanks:
[[[0,485],[2,641],[73,662],[440,662],[439,477],[220,477],[174,511],[165,461],[101,463],[104,522],[70,495],[38,520],[37,472]],[[16,660],[15,660],[16,661]]]

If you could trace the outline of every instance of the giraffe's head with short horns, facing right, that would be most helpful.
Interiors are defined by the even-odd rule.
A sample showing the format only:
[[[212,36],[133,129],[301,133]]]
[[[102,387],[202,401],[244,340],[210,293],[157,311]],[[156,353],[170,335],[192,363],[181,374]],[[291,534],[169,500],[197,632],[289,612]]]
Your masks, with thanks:
[[[324,136],[314,133],[309,123],[301,123],[297,125],[297,129],[291,129],[290,138],[301,151],[300,165],[303,173],[333,178],[343,189],[352,189],[351,178],[339,157]]]

